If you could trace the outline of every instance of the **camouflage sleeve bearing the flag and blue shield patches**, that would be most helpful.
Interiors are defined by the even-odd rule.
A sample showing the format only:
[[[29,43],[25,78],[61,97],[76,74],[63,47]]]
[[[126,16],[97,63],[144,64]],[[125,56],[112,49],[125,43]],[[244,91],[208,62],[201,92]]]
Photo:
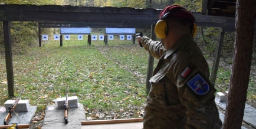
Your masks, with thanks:
[[[173,70],[179,99],[187,108],[186,128],[221,128],[214,101],[216,90],[205,74],[208,69],[201,64],[204,63],[192,64],[191,60],[182,60]]]

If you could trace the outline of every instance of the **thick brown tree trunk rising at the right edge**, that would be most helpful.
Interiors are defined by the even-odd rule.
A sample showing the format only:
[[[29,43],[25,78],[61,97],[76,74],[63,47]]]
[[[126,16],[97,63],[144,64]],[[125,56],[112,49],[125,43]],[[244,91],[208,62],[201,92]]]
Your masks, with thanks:
[[[237,0],[235,47],[224,129],[241,128],[251,70],[255,0]]]

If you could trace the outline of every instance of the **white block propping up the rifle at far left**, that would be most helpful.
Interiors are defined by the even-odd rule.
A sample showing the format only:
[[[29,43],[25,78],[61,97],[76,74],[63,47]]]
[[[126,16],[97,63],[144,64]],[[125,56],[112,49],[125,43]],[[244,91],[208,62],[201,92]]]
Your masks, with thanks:
[[[6,112],[9,111],[8,107],[12,107],[12,104],[14,104],[15,100],[7,100],[5,101],[5,110]],[[28,112],[29,108],[29,100],[19,100],[17,106],[15,107],[15,112]]]

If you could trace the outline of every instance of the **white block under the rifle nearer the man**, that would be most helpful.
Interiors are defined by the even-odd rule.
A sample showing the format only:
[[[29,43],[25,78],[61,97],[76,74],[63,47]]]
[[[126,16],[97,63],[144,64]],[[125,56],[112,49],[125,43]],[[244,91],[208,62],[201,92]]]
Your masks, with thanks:
[[[65,100],[66,100],[65,97],[57,98],[55,100],[55,105],[57,106],[58,109],[64,109]],[[70,108],[78,107],[77,96],[68,97],[68,106],[70,106]]]

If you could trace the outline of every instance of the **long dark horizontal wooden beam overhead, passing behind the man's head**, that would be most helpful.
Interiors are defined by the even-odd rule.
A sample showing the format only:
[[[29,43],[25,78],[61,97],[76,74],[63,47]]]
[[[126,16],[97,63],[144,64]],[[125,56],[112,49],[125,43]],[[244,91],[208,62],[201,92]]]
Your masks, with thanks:
[[[13,7],[15,6],[15,7]],[[71,9],[67,6],[26,6],[26,5],[0,5],[0,21],[38,21],[38,22],[109,22],[133,23],[133,25],[153,25],[159,19],[160,9],[134,9],[134,8],[99,8],[84,7]],[[32,8],[32,9],[30,9]],[[44,9],[43,9],[44,8]],[[69,9],[67,9],[69,8]],[[76,7],[75,7],[76,8]],[[64,10],[70,12],[64,12]],[[78,12],[81,11],[81,12]],[[84,12],[83,12],[84,11]],[[202,15],[201,12],[192,12],[196,21],[226,22],[225,17]],[[112,16],[114,16],[112,18]],[[107,20],[107,21],[105,21]],[[235,23],[235,19],[232,19]]]

